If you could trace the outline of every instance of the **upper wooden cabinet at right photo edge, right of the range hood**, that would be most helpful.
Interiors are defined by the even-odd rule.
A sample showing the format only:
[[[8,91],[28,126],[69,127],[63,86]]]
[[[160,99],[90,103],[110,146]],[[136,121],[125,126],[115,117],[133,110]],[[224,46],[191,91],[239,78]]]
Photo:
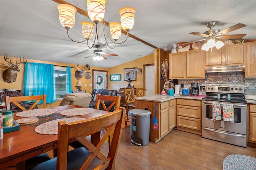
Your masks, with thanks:
[[[246,43],[244,56],[246,57],[245,77],[256,77],[256,42]]]

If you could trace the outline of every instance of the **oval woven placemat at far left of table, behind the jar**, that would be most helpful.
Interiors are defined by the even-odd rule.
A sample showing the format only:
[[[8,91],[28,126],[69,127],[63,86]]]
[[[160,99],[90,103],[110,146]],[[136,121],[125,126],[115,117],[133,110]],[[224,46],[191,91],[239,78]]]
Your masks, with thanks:
[[[56,112],[57,112],[57,109],[33,109],[33,110],[17,113],[16,116],[18,116],[18,117],[41,117],[41,116],[52,115]]]

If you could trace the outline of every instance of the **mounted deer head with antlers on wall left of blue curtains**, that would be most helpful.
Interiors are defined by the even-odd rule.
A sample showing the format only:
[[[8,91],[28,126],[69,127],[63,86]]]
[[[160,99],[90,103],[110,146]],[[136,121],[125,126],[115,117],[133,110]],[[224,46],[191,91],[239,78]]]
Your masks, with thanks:
[[[17,71],[20,71],[19,67],[21,66],[20,64],[22,63],[26,63],[27,60],[24,59],[23,57],[23,61],[21,61],[21,57],[20,57],[20,63],[13,64],[11,59],[10,61],[7,61],[8,59],[10,59],[10,57],[8,57],[8,54],[4,55],[4,60],[6,61],[5,65],[7,65],[9,68],[7,70],[4,70],[3,72],[3,78],[4,81],[6,81],[7,83],[12,83],[16,81],[17,78]]]

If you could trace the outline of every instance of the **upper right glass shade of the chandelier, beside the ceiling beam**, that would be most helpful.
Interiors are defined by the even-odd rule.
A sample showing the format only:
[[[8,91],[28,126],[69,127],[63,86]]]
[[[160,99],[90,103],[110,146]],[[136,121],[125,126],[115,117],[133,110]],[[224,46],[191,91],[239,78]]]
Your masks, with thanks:
[[[132,7],[124,7],[119,10],[122,28],[127,32],[134,26],[135,13],[136,10]]]

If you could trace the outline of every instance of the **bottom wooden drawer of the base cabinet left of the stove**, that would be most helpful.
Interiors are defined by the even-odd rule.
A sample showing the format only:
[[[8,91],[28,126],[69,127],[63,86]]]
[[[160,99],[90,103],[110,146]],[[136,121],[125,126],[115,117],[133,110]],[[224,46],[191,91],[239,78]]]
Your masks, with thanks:
[[[201,130],[200,119],[177,116],[177,126]]]

